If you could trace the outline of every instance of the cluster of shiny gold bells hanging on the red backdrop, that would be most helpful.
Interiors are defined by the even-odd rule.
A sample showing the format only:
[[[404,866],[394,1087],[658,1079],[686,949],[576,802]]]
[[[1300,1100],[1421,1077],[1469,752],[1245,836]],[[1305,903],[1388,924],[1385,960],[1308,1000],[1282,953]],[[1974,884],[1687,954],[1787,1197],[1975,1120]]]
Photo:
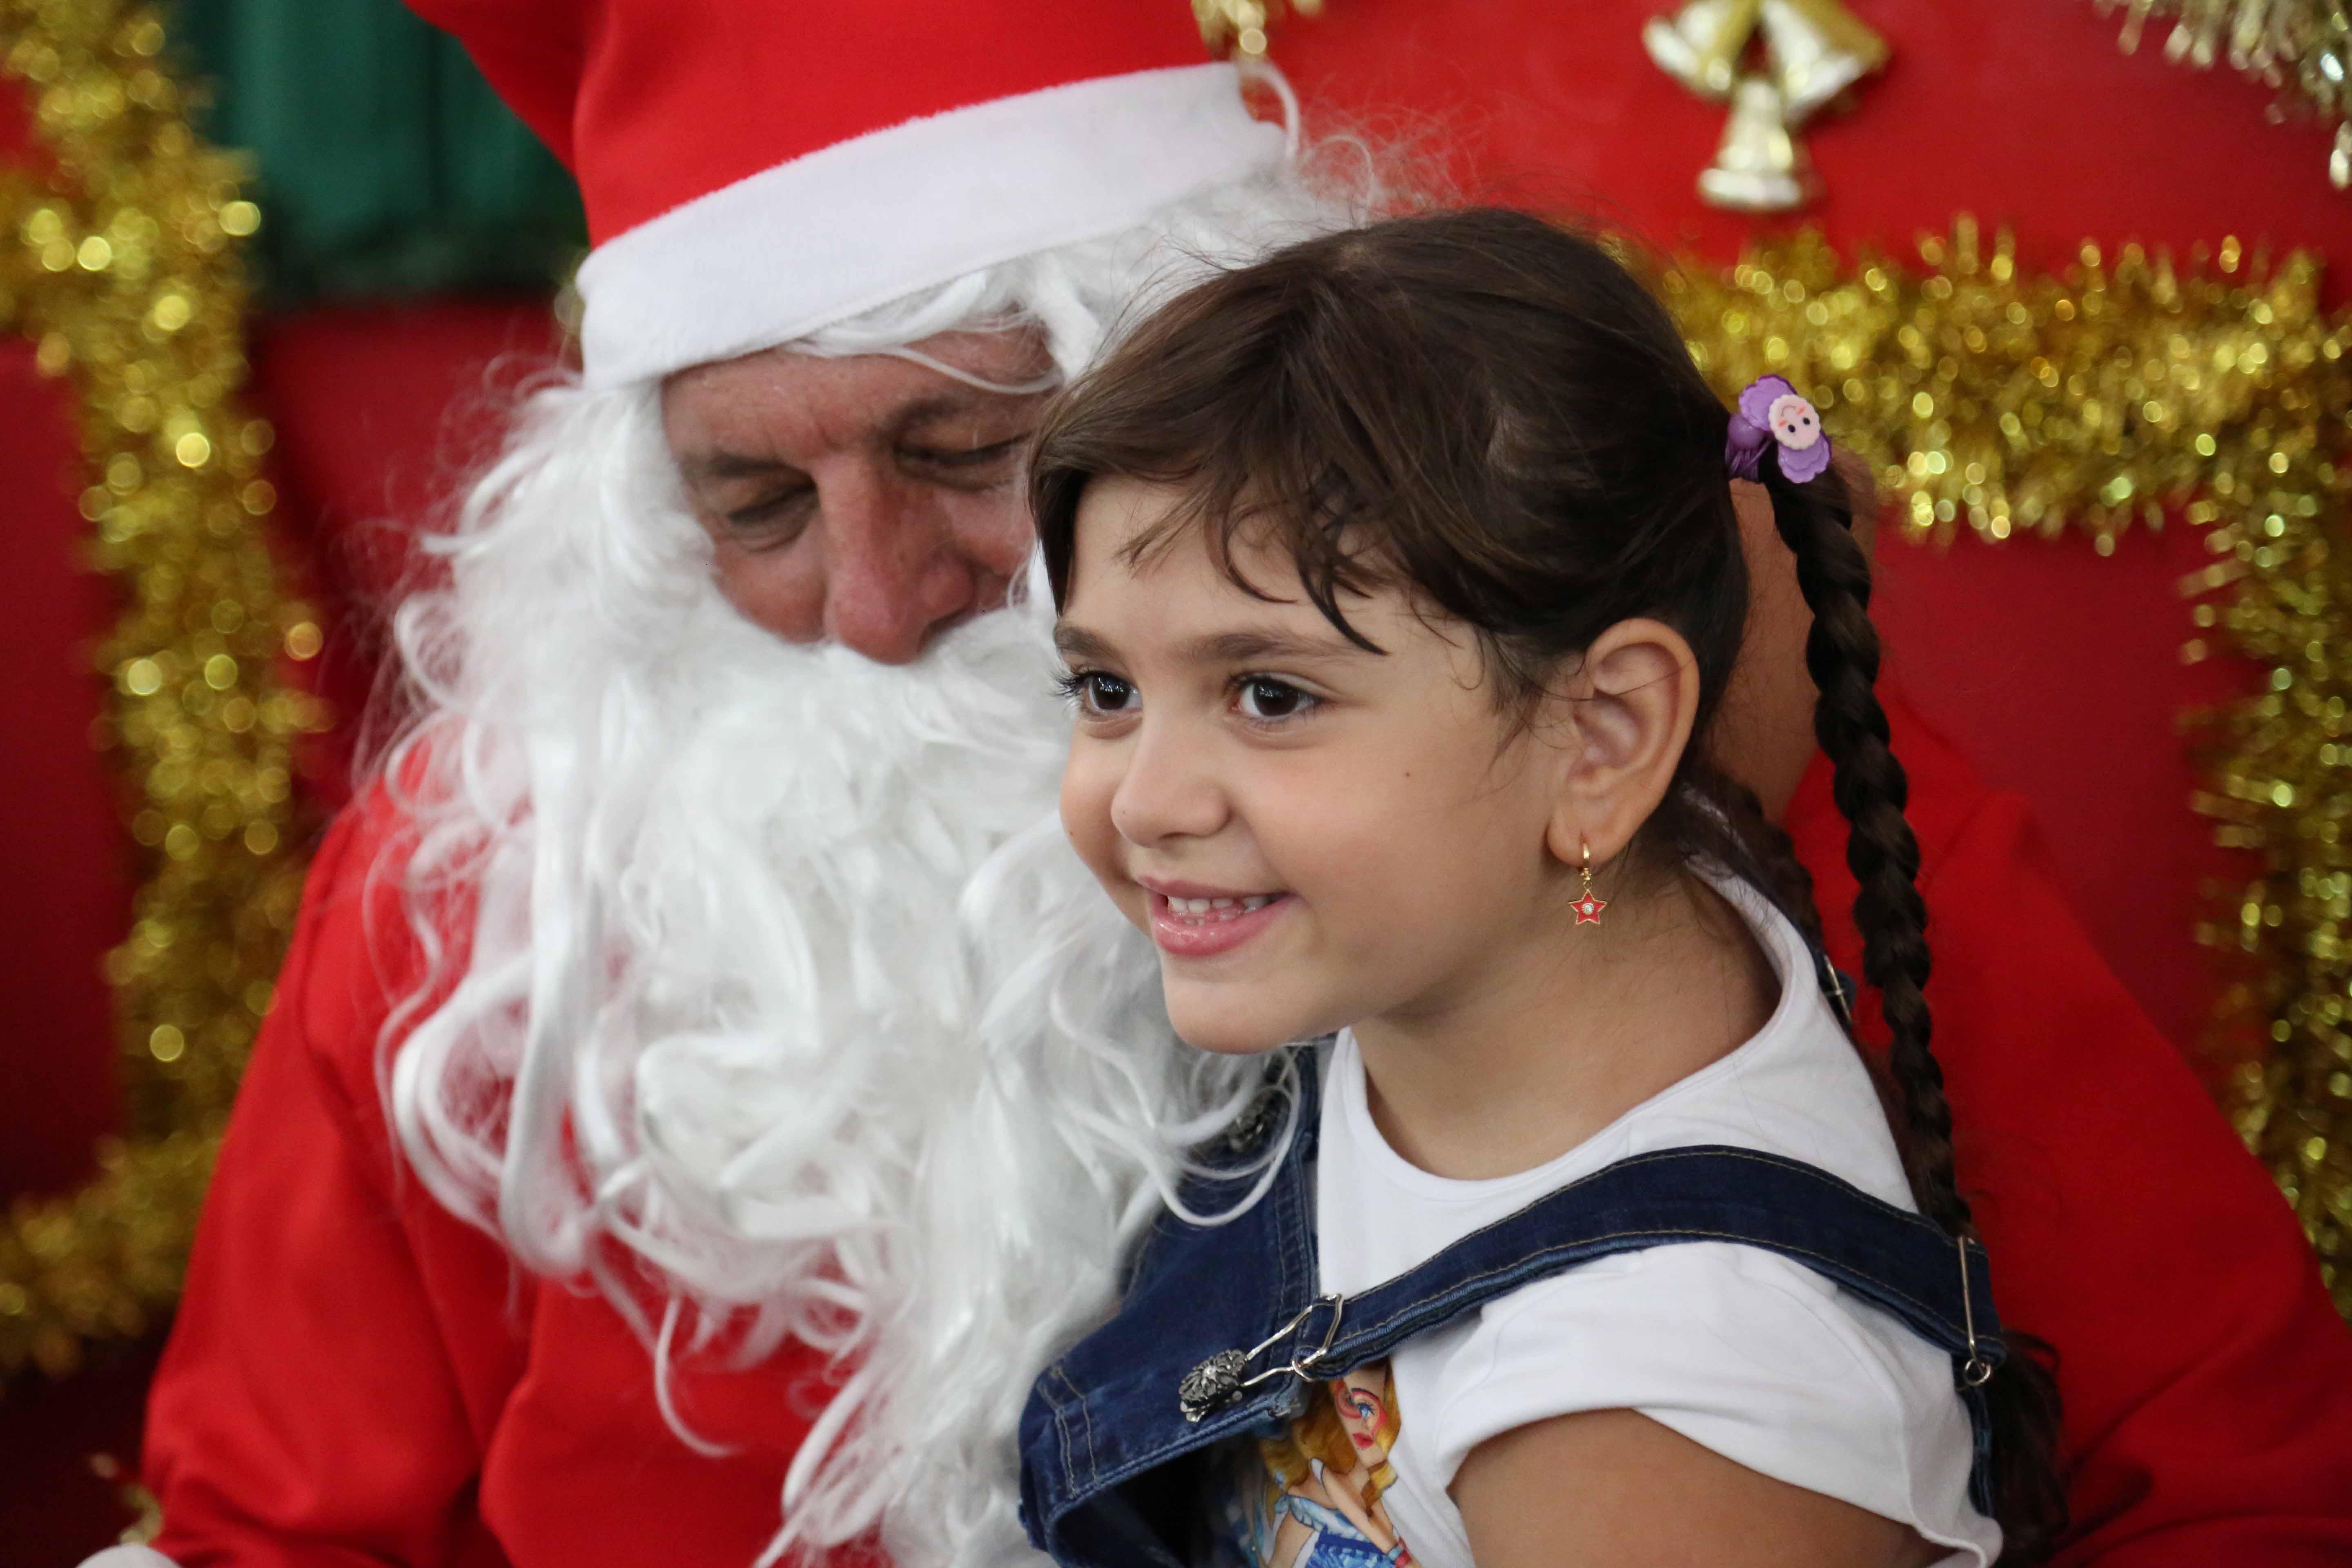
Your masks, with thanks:
[[[1839,0],[1689,0],[1642,28],[1649,56],[1703,99],[1731,106],[1698,197],[1731,212],[1790,212],[1820,193],[1797,127],[1886,66],[1886,40]]]

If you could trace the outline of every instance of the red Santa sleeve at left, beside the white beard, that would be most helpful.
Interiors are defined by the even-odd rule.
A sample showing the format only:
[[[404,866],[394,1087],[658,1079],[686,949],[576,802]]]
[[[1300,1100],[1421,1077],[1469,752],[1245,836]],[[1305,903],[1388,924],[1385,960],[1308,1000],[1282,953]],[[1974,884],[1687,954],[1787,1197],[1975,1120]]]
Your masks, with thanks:
[[[155,1375],[146,1479],[181,1568],[489,1568],[482,1448],[522,1366],[499,1248],[395,1175],[374,1091],[397,896],[381,799],[327,835]]]

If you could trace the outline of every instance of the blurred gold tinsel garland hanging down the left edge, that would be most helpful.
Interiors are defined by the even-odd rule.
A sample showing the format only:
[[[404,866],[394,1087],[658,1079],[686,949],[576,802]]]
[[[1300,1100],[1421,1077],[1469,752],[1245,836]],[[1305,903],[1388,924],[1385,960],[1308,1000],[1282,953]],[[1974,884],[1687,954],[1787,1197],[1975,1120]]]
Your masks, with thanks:
[[[0,0],[47,179],[0,186],[0,324],[78,393],[82,515],[125,611],[101,649],[101,731],[148,856],[106,957],[129,1135],[64,1201],[0,1222],[0,1375],[75,1366],[85,1340],[169,1309],[219,1126],[301,891],[294,743],[322,705],[278,679],[320,632],[278,595],[261,517],[270,428],[245,383],[242,169],[188,127],[151,5]],[[47,475],[16,475],[45,484]]]

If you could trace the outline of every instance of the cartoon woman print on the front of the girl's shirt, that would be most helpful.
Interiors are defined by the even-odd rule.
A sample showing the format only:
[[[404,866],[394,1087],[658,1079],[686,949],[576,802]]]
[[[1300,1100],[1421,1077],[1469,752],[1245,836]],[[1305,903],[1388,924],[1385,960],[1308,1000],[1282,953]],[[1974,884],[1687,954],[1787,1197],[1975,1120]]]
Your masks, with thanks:
[[[1228,1514],[1232,1559],[1247,1568],[1383,1568],[1414,1561],[1381,1505],[1402,1429],[1388,1361],[1324,1382],[1289,1432],[1244,1455]],[[1256,1465],[1249,1465],[1256,1458]]]

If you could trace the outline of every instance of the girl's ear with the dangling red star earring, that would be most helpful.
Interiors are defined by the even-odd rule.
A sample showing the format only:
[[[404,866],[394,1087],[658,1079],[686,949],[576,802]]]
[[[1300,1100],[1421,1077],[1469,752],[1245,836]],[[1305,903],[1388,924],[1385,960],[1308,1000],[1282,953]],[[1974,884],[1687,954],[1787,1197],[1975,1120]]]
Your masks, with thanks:
[[[1613,860],[1675,783],[1698,722],[1698,658],[1663,621],[1618,621],[1545,696],[1562,748],[1545,849],[1564,865]]]

